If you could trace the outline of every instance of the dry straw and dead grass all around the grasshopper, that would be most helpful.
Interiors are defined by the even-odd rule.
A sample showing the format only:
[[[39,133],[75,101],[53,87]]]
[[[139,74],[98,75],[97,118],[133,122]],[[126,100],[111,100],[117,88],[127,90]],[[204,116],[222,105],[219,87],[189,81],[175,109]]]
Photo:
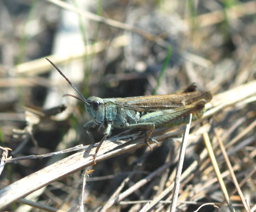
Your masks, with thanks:
[[[253,0],[0,1],[0,208],[256,211],[255,14]],[[156,129],[152,151],[114,129],[92,166],[89,117],[45,57],[86,98],[210,90],[184,163],[179,126]]]

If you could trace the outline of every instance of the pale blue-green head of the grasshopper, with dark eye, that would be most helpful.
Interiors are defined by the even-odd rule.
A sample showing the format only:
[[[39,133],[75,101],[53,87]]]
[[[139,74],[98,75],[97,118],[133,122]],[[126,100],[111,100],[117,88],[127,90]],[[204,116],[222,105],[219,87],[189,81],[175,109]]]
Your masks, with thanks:
[[[102,124],[105,117],[105,105],[102,98],[96,96],[90,96],[85,104],[85,109],[87,110],[91,120],[95,124]]]

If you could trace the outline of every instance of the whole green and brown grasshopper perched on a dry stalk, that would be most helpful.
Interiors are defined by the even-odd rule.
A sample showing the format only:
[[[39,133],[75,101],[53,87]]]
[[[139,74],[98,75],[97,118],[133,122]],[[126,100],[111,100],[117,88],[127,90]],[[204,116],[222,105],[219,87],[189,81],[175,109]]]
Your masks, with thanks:
[[[196,85],[191,84],[185,89],[166,95],[104,99],[90,96],[86,100],[60,69],[48,58],[46,59],[82,98],[78,99],[84,102],[85,109],[91,118],[91,121],[84,124],[84,129],[87,131],[95,125],[106,127],[104,136],[92,158],[94,164],[96,164],[95,160],[101,144],[110,136],[113,127],[148,130],[145,142],[149,146],[148,140],[158,143],[150,138],[154,128],[186,124],[190,113],[192,113],[192,121],[196,120],[204,113],[204,105],[212,99],[209,91],[197,91]]]

